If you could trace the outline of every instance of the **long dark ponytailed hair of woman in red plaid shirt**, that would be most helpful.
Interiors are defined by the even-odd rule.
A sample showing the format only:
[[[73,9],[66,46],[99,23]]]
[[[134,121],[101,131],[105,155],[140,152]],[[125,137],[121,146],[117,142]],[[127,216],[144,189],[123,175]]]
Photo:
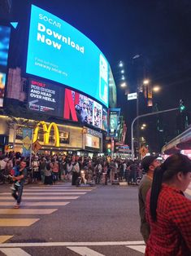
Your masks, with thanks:
[[[155,222],[157,220],[158,195],[163,182],[171,180],[177,173],[191,172],[191,160],[180,153],[168,157],[166,161],[154,170],[154,178],[150,195],[150,214]]]

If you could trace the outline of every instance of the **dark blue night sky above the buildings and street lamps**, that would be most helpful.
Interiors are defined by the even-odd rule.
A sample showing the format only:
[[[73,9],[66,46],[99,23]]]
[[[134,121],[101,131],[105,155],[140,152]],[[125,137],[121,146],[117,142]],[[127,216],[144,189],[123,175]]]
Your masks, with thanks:
[[[136,104],[128,102],[124,90],[119,88],[119,60],[124,61],[130,92],[136,90],[145,75],[153,85],[161,86],[162,90],[154,95],[159,110],[178,107],[179,99],[184,99],[190,110],[190,0],[13,0],[12,17],[25,20],[29,2],[72,24],[106,55],[116,78],[118,107],[128,123],[128,138]],[[132,62],[137,54],[141,57]],[[145,108],[141,104],[140,113]],[[170,139],[175,135],[174,117],[175,113],[163,117],[169,123]],[[154,130],[148,131],[154,136]],[[151,135],[145,132],[145,136]]]

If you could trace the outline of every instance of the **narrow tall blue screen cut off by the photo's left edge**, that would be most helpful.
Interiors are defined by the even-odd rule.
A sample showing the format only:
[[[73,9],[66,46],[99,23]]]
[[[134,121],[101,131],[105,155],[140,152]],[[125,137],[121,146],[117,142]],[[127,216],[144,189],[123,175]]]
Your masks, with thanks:
[[[5,95],[10,33],[10,27],[0,25],[0,108],[3,106]]]

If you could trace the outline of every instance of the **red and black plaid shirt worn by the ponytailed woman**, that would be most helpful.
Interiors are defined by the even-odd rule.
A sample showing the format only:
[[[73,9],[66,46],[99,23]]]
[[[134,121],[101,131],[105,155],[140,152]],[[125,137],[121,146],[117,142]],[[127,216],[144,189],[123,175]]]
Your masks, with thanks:
[[[157,221],[153,222],[149,191],[145,214],[151,229],[145,255],[191,255],[191,201],[183,192],[163,184],[158,196]]]

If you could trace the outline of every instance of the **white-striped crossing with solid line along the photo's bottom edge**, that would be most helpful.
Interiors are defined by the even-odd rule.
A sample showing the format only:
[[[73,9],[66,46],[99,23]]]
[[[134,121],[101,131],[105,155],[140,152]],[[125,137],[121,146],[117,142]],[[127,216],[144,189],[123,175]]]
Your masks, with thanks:
[[[123,254],[121,255],[143,255],[145,254],[145,243],[144,241],[114,241],[114,242],[44,242],[44,243],[4,243],[0,244],[0,252],[6,255],[17,255],[27,256],[28,248],[43,248],[43,252],[49,255],[49,248],[60,248],[55,249],[54,255],[71,255],[74,252],[81,256],[111,256],[115,255],[112,253],[113,246],[120,246],[119,250],[122,249]],[[20,248],[18,248],[20,247]],[[104,248],[105,247],[105,248]],[[113,247],[113,248],[115,248]],[[24,248],[24,249],[22,249]],[[33,250],[34,251],[34,250]],[[117,250],[118,251],[118,250]],[[13,252],[15,252],[13,254]],[[57,252],[57,254],[56,254]],[[135,254],[137,252],[137,254]],[[120,253],[119,253],[120,254]],[[117,255],[119,255],[117,254]],[[33,254],[36,255],[36,254]]]

